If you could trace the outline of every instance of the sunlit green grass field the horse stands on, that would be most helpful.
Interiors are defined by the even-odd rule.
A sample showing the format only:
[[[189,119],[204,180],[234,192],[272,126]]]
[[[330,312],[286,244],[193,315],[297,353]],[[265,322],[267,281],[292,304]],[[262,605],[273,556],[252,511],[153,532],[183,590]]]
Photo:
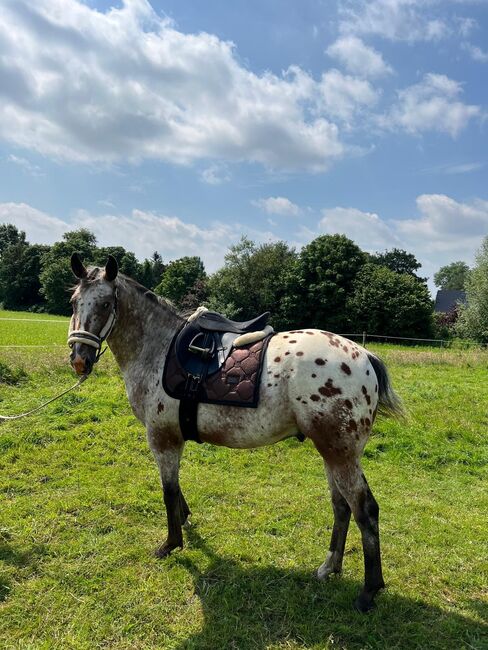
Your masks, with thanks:
[[[64,344],[66,328],[0,321],[0,346]],[[343,576],[313,576],[332,511],[308,442],[188,444],[186,548],[156,560],[156,465],[107,354],[78,392],[0,424],[0,647],[488,648],[488,353],[372,347],[410,413],[378,420],[364,458],[387,582],[375,611],[352,608],[355,525]],[[0,347],[2,377],[2,414],[74,383],[63,347]]]

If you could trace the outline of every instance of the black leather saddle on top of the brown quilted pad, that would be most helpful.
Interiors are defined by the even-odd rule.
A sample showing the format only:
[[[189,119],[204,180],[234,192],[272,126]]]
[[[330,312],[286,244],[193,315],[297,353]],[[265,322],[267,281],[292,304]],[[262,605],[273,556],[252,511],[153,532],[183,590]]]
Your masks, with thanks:
[[[180,366],[193,379],[188,397],[198,399],[198,384],[224,365],[235,339],[246,332],[262,330],[268,318],[269,312],[265,312],[239,323],[206,311],[187,323],[176,337],[175,352]]]

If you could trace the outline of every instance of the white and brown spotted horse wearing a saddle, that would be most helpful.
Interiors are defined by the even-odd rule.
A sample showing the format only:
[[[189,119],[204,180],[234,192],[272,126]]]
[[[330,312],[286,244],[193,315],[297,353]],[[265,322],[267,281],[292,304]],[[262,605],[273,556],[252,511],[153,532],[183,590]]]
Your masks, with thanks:
[[[183,546],[182,524],[190,510],[179,486],[184,440],[179,402],[163,390],[161,377],[171,340],[184,322],[174,308],[133,280],[118,274],[109,258],[105,268],[85,269],[77,255],[79,278],[72,297],[71,331],[96,341],[113,325],[107,342],[120,366],[130,405],[144,424],[161,476],[168,536],[157,549],[166,557]],[[76,339],[76,336],[75,336]],[[71,363],[88,374],[97,345],[72,344]],[[339,573],[351,511],[362,535],[365,583],[356,607],[367,611],[384,586],[378,530],[378,504],[361,470],[360,457],[377,411],[401,414],[383,363],[341,336],[316,329],[276,334],[269,342],[256,409],[200,404],[198,430],[204,442],[248,449],[303,433],[324,459],[332,495],[334,528],[329,552],[317,575]]]

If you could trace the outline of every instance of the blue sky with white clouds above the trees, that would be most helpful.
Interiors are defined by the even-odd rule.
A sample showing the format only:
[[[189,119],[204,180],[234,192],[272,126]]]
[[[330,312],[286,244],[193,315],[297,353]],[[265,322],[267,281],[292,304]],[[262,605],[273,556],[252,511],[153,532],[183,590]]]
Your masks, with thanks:
[[[0,0],[0,222],[140,259],[488,234],[488,0]]]

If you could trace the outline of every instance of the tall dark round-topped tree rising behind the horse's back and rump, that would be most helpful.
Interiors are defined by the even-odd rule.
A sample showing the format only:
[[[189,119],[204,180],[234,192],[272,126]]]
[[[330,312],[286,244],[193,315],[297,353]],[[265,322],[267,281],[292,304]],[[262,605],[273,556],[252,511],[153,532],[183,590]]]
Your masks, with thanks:
[[[344,331],[347,299],[366,261],[366,253],[345,235],[322,235],[305,246],[298,263],[296,324]]]

